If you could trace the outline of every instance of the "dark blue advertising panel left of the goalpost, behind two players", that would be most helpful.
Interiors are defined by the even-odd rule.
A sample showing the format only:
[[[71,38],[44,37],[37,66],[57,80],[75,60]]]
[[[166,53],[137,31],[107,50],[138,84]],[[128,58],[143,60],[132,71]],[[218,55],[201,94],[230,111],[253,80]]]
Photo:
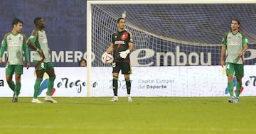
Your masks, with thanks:
[[[11,21],[23,21],[22,33],[28,38],[36,27],[34,18],[46,21],[48,45],[55,66],[78,66],[86,52],[85,0],[4,0],[0,1],[0,40],[11,31]],[[31,49],[29,49],[31,51]],[[32,60],[31,60],[32,62]],[[31,64],[33,66],[33,63]],[[4,67],[4,64],[0,64]]]

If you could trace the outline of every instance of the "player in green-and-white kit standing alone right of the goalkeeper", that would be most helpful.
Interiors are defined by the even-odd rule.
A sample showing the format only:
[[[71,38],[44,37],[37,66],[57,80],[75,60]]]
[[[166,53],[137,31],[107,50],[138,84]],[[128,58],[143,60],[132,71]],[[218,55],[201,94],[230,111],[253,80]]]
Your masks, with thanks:
[[[236,18],[231,21],[231,30],[224,34],[220,51],[220,65],[225,65],[228,76],[228,102],[239,102],[242,77],[244,76],[244,53],[247,50],[248,40],[245,33],[239,30],[240,21]],[[226,53],[226,55],[225,55]],[[225,62],[223,60],[225,55]],[[237,79],[236,94],[233,93],[233,76]]]

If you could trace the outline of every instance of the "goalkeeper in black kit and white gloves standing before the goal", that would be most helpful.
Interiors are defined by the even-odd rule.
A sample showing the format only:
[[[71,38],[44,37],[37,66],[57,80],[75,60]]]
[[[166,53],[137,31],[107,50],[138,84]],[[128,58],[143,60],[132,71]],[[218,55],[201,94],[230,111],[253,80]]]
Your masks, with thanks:
[[[125,20],[124,18],[117,19],[118,30],[112,34],[112,41],[107,48],[106,52],[102,55],[105,57],[108,53],[113,51],[114,61],[112,63],[113,67],[113,91],[114,97],[110,101],[118,101],[117,97],[117,80],[120,70],[124,74],[124,79],[127,86],[127,98],[129,102],[132,102],[131,94],[131,81],[129,79],[129,74],[132,74],[132,69],[130,65],[129,53],[133,48],[132,33],[129,30],[125,30]]]

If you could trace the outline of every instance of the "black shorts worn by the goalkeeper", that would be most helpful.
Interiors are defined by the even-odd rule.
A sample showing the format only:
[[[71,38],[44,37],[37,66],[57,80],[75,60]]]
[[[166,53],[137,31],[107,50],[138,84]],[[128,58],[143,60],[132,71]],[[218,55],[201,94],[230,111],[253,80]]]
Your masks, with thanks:
[[[122,70],[122,74],[132,74],[132,68],[130,62],[113,62],[113,73],[119,73]]]

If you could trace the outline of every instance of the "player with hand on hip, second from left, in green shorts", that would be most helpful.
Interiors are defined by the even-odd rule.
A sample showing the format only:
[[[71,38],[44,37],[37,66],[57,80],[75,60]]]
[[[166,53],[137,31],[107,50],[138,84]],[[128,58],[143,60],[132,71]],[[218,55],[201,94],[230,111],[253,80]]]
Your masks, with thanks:
[[[34,94],[32,103],[42,104],[42,101],[38,99],[38,92],[40,89],[40,84],[43,80],[43,74],[46,72],[49,76],[48,90],[46,93],[45,101],[50,101],[51,103],[57,103],[51,97],[51,91],[53,90],[53,84],[55,80],[55,72],[53,68],[53,63],[50,60],[50,48],[48,47],[48,40],[46,37],[45,22],[43,18],[38,17],[34,19],[36,28],[32,31],[31,36],[27,40],[29,48],[35,50],[36,52],[33,55],[33,63],[36,69],[36,82],[34,85]]]

